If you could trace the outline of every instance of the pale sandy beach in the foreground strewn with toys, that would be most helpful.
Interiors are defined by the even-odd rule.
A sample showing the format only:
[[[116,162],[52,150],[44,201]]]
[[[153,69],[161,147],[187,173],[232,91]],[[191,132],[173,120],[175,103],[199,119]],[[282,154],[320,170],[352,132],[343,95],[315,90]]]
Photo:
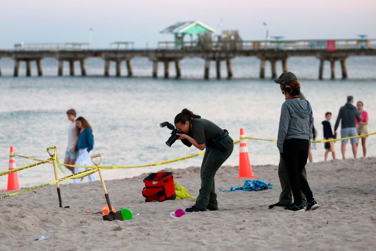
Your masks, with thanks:
[[[179,219],[170,212],[192,206],[194,199],[146,203],[141,191],[147,174],[106,181],[115,208],[133,211],[133,220],[127,221],[83,214],[106,204],[99,181],[62,185],[63,206],[70,209],[58,207],[56,187],[42,187],[0,200],[0,249],[374,250],[375,164],[376,158],[308,164],[308,181],[320,208],[306,212],[268,209],[280,193],[276,165],[253,166],[258,179],[275,185],[257,192],[221,192],[247,180],[233,178],[237,167],[221,167],[215,178],[220,210]],[[164,170],[197,195],[198,167]],[[106,172],[111,170],[103,170],[105,178]],[[45,231],[51,234],[48,239],[34,241]]]

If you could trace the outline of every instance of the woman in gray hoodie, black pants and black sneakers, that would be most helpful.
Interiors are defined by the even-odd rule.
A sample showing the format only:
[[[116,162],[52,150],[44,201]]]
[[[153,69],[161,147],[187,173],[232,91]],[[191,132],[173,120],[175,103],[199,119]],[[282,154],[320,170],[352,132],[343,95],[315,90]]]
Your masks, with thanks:
[[[307,164],[308,147],[312,138],[312,108],[308,101],[298,98],[300,84],[293,81],[284,84],[282,91],[286,101],[282,104],[279,119],[277,147],[285,161],[294,203],[285,209],[305,211],[300,190],[307,198],[308,210],[318,208],[308,182],[302,175]]]

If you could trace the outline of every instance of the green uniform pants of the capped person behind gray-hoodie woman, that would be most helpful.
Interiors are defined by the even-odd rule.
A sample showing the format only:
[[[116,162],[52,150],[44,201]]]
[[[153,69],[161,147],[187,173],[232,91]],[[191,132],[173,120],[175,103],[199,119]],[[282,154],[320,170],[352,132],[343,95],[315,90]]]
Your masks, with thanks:
[[[307,180],[307,172],[305,167],[303,168],[303,177]],[[290,187],[290,179],[288,178],[288,172],[286,164],[281,155],[279,155],[279,165],[278,165],[278,177],[279,182],[281,183],[282,193],[279,195],[279,203],[285,206],[293,204],[293,195]],[[307,199],[302,192],[302,204],[306,206]]]

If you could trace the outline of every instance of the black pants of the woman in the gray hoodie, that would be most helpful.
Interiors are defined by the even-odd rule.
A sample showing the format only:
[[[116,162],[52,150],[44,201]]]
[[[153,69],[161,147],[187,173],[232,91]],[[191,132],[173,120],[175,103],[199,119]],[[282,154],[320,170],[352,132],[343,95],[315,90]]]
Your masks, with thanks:
[[[306,196],[307,202],[311,202],[313,199],[312,191],[302,174],[303,168],[307,164],[308,147],[308,139],[286,139],[283,144],[283,153],[281,153],[286,164],[288,177],[290,178],[294,204],[297,206],[302,205],[300,190]]]

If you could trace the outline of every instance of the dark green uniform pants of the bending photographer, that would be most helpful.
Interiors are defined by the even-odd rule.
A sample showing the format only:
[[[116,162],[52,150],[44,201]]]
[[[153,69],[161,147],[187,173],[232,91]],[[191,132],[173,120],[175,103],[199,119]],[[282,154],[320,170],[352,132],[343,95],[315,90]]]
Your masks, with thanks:
[[[221,152],[218,149],[206,148],[204,158],[201,165],[201,188],[199,196],[197,196],[197,208],[206,210],[209,208],[218,208],[217,194],[214,187],[214,175],[221,165],[228,159],[233,151],[233,140],[230,136],[223,139],[224,144],[229,148],[226,152]]]

